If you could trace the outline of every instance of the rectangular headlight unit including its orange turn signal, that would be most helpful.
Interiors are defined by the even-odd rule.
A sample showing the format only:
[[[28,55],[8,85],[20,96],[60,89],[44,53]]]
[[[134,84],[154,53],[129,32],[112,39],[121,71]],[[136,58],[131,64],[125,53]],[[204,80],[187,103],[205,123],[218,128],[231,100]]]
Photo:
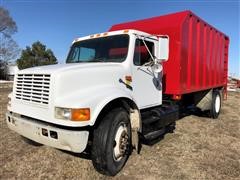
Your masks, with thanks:
[[[55,107],[55,118],[71,121],[90,120],[90,108],[70,109]]]

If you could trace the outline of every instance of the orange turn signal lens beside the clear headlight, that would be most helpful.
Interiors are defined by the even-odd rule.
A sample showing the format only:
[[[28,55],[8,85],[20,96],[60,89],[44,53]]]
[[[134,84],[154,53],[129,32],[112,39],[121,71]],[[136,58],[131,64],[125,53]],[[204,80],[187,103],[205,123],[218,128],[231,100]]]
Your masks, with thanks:
[[[72,121],[88,121],[90,120],[90,109],[71,109]]]

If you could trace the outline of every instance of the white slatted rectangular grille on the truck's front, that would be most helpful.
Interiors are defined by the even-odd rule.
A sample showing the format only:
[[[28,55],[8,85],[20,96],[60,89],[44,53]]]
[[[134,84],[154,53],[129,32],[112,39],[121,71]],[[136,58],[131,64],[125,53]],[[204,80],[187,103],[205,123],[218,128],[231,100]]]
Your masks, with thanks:
[[[49,74],[18,74],[16,77],[16,99],[48,104],[49,89]]]

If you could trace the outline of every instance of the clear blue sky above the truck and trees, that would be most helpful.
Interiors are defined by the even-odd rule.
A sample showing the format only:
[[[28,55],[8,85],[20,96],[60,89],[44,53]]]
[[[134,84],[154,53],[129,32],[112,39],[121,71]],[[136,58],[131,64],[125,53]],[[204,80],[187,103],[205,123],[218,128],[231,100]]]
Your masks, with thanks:
[[[113,24],[191,10],[230,38],[229,74],[240,77],[240,0],[0,0],[20,48],[41,41],[64,63],[73,39]]]

